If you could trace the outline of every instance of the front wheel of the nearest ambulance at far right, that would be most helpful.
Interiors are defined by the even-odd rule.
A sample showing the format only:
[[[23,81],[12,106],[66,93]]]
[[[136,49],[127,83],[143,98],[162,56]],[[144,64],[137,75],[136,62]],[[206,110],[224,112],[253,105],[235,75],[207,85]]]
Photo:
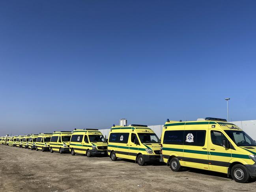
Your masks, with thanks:
[[[249,170],[244,165],[234,165],[231,168],[231,176],[237,183],[247,183],[250,179]]]

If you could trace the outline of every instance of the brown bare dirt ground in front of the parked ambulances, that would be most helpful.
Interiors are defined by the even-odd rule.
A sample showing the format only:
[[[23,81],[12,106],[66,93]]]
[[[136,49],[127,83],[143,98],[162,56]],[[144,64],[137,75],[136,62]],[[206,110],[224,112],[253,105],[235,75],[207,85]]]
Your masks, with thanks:
[[[225,174],[201,170],[173,172],[165,164],[138,166],[109,157],[42,152],[0,145],[1,192],[254,191]]]

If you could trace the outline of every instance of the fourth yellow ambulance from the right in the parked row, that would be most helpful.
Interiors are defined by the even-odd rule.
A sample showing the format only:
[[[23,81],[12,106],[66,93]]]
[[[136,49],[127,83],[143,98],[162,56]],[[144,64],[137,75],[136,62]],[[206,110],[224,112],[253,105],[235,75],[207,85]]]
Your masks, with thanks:
[[[71,131],[54,131],[50,139],[50,152],[58,151],[60,154],[69,152],[71,134]]]

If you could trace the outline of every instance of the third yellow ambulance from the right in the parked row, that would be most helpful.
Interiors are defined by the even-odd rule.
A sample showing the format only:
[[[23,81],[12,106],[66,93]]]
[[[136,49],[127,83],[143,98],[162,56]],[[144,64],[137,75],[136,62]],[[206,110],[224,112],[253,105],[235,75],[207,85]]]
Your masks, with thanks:
[[[75,129],[72,132],[69,151],[92,155],[107,155],[107,142],[98,129]]]

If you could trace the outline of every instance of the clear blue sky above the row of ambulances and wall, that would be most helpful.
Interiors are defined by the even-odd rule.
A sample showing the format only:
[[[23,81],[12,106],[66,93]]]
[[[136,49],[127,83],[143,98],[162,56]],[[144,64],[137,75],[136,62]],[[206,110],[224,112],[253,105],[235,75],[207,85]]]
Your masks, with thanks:
[[[256,119],[255,1],[0,2],[0,135]]]

